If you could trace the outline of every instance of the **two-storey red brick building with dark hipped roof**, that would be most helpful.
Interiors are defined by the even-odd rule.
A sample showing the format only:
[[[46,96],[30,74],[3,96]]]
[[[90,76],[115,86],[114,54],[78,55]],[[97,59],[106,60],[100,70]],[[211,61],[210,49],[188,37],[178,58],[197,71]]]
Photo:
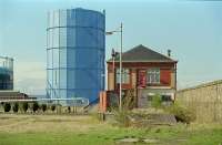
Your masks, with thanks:
[[[135,90],[138,107],[145,107],[157,94],[165,101],[174,100],[176,63],[170,56],[140,44],[122,53],[122,89]],[[108,91],[119,91],[119,55],[107,64]]]

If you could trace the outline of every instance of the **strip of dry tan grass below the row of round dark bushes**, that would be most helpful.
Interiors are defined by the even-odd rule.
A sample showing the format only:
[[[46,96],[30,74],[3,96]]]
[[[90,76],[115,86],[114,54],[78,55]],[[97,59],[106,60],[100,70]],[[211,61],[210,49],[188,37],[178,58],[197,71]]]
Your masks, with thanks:
[[[88,115],[0,115],[0,131],[10,133],[30,132],[85,132],[100,126],[95,118]]]

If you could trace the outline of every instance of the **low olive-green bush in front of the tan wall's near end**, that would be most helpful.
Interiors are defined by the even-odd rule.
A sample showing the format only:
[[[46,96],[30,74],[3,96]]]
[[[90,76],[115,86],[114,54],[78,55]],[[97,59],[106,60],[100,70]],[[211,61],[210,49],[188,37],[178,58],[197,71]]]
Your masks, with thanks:
[[[168,111],[174,114],[175,120],[178,122],[183,122],[189,124],[195,120],[195,114],[191,110],[182,107],[176,103],[169,106]]]

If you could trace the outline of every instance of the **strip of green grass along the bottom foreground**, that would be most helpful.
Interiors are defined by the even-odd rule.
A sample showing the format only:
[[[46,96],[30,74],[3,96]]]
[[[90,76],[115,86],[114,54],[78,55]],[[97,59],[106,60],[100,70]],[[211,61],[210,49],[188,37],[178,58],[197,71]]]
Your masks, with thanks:
[[[152,131],[151,133],[145,133],[145,131],[137,130],[104,130],[102,133],[100,131],[90,131],[88,133],[73,133],[73,132],[61,132],[61,133],[19,133],[19,134],[2,134],[1,144],[7,145],[113,145],[115,141],[124,137],[148,137],[157,138],[160,136],[160,145],[220,145],[222,131],[213,130],[206,131],[205,133],[194,132],[190,133],[191,135],[180,133],[181,137],[176,132],[172,131],[162,131],[161,133],[155,133],[158,131]],[[168,132],[165,134],[164,132]],[[154,137],[153,137],[154,136]],[[188,137],[188,139],[184,138]],[[168,138],[169,137],[169,138]],[[13,138],[13,139],[12,139]]]

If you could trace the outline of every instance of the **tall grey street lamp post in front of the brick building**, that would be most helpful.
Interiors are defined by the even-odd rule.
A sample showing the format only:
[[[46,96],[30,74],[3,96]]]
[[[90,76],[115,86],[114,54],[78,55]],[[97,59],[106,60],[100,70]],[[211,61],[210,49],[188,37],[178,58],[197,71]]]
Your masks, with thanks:
[[[113,34],[115,32],[120,32],[120,111],[122,111],[122,32],[123,32],[123,24],[120,24],[120,30],[115,30],[115,31],[110,31],[110,32],[105,32],[105,34],[110,35]],[[114,73],[114,72],[113,72]]]

